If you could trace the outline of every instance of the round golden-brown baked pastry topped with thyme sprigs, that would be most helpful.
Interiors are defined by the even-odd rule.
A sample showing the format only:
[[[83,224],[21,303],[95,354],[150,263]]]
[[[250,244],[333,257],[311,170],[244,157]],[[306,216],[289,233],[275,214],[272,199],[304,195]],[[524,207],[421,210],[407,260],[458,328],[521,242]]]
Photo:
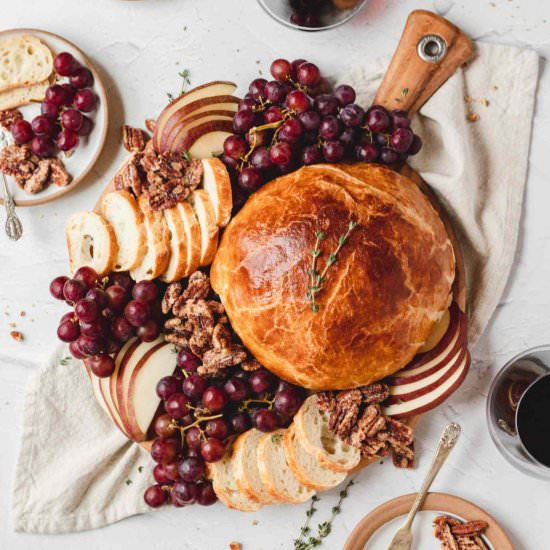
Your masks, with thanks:
[[[322,273],[350,222],[312,285],[316,242]],[[454,272],[443,222],[416,184],[379,165],[320,164],[251,196],[225,230],[211,280],[258,361],[326,390],[405,366],[447,309]],[[315,304],[309,286],[320,287]]]

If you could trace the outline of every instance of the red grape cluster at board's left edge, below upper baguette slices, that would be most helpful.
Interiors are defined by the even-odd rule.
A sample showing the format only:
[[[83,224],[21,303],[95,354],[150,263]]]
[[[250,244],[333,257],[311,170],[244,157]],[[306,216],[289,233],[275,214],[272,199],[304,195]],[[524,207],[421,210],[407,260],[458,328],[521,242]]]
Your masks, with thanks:
[[[160,293],[153,281],[134,283],[127,273],[100,279],[91,267],[81,267],[72,279],[56,277],[50,292],[73,306],[61,318],[58,338],[101,378],[113,373],[113,355],[124,342],[133,336],[152,342],[160,334]]]

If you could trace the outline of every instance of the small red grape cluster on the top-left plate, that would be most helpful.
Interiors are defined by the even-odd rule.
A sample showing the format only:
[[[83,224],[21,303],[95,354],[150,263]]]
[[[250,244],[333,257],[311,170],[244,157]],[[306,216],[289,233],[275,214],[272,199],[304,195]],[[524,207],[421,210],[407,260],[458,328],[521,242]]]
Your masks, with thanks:
[[[15,143],[29,143],[39,157],[54,156],[56,147],[61,151],[75,149],[80,136],[87,136],[92,130],[91,120],[82,113],[93,111],[97,105],[97,96],[90,89],[94,82],[90,69],[68,52],[58,54],[53,65],[59,76],[68,77],[68,82],[50,86],[41,114],[31,122],[17,120],[11,130]]]

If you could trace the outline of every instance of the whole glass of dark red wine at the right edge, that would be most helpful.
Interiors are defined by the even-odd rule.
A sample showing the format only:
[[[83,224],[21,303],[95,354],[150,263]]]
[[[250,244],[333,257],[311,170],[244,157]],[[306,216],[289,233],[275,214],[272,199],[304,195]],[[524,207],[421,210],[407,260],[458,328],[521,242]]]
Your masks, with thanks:
[[[550,480],[550,346],[504,365],[487,398],[491,437],[513,466]]]

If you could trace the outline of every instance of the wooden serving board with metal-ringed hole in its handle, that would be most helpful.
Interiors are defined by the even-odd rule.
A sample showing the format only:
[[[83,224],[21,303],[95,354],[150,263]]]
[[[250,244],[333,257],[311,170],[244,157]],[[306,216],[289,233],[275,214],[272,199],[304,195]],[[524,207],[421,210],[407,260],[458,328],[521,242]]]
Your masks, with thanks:
[[[430,11],[415,10],[407,18],[403,34],[373,103],[388,110],[402,109],[412,116],[473,54],[474,48],[470,39],[458,27]],[[427,59],[423,59],[422,55]],[[405,163],[399,173],[418,185],[445,225],[456,258],[453,299],[465,312],[464,258],[453,226],[435,193],[417,172]],[[410,417],[407,424],[415,427],[422,416]],[[379,459],[364,459],[355,470],[361,470],[377,460]]]

